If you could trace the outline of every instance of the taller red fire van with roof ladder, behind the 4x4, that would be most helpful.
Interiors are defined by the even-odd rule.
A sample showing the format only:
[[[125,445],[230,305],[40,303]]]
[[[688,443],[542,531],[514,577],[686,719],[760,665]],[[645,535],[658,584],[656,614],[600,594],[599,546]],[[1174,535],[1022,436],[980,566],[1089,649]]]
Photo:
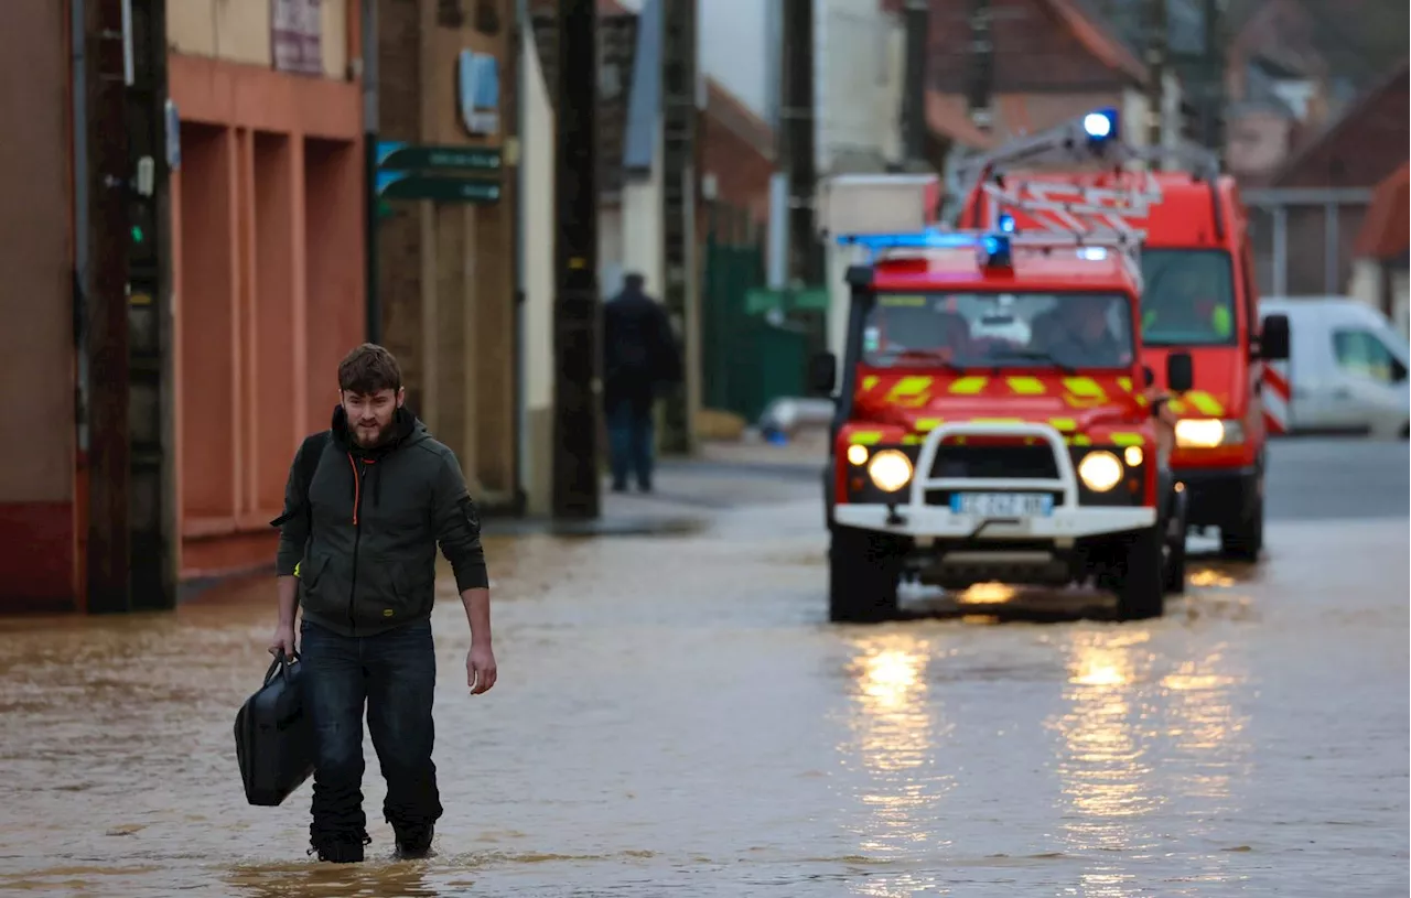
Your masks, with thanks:
[[[1182,168],[1154,171],[1165,159]],[[1204,149],[1125,144],[1112,109],[967,161],[959,180],[961,227],[1023,233],[1061,221],[1058,206],[1077,206],[1143,233],[1143,358],[1161,372],[1170,352],[1188,352],[1199,372],[1195,389],[1170,403],[1178,417],[1171,468],[1189,496],[1188,524],[1219,529],[1223,554],[1256,561],[1264,544],[1267,436],[1281,431],[1261,389],[1268,364],[1288,358],[1290,333],[1281,314],[1260,324],[1235,180]],[[1134,202],[1112,202],[1119,196]]]

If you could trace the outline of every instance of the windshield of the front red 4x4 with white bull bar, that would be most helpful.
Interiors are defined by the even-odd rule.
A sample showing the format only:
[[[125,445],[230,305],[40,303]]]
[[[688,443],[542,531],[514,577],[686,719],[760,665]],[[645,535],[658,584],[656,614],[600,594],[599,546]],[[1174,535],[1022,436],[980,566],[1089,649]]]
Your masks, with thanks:
[[[862,361],[879,368],[1132,364],[1129,300],[1119,293],[879,293]]]

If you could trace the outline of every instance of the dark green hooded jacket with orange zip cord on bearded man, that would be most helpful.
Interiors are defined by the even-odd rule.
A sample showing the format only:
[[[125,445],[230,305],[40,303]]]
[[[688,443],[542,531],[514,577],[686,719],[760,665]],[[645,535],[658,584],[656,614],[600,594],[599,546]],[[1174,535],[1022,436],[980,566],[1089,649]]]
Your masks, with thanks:
[[[436,544],[459,591],[488,586],[480,517],[454,453],[406,409],[374,448],[357,445],[343,406],[299,447],[284,492],[278,574],[299,578],[305,620],[371,636],[430,616]],[[308,484],[301,457],[319,451]]]

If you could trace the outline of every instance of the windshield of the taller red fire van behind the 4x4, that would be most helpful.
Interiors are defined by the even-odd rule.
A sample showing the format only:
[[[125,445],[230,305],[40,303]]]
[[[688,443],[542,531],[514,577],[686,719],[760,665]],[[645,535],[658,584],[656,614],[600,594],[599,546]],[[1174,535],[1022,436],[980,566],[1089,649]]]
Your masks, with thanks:
[[[1141,251],[1141,343],[1235,345],[1235,266],[1223,250]]]

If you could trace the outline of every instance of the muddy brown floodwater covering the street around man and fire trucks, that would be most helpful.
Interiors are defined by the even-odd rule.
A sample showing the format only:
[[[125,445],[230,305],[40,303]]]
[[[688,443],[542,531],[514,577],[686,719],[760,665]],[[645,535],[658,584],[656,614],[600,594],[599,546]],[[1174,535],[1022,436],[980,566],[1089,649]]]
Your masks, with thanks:
[[[368,863],[305,856],[308,784],[246,804],[231,725],[268,665],[272,582],[0,622],[0,892],[1407,894],[1404,510],[1280,516],[1261,565],[1194,558],[1153,623],[838,627],[816,482],[752,476],[735,492],[759,505],[696,533],[488,540],[484,696],[446,584],[425,861],[389,860],[370,740]]]

